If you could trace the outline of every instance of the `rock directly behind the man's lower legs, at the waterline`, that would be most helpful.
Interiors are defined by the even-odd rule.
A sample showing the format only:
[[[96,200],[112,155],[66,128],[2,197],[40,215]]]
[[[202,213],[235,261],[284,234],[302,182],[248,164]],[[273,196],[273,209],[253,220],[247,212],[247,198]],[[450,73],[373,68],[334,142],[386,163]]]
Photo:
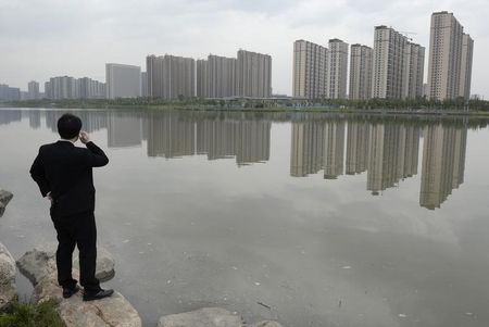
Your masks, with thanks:
[[[55,260],[57,246],[54,243],[42,244],[26,252],[20,260],[17,266],[21,273],[26,276],[33,285],[37,285],[45,276],[57,272]],[[74,255],[74,267],[78,267],[78,257]],[[101,281],[106,281],[114,277],[114,259],[105,249],[97,249],[96,277]]]

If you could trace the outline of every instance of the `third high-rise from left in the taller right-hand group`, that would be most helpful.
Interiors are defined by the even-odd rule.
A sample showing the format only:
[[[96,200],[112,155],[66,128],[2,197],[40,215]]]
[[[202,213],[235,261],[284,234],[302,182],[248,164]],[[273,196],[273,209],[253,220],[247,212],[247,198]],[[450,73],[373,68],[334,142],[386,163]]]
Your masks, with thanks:
[[[367,46],[352,45],[350,52],[350,92],[352,100],[372,96],[372,66],[374,50]]]

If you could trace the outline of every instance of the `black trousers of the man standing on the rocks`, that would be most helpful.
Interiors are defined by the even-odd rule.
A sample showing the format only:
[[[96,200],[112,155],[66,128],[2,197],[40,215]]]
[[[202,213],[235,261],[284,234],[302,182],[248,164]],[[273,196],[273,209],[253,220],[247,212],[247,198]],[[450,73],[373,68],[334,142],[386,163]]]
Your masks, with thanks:
[[[55,205],[51,207],[51,219],[58,234],[57,267],[58,282],[63,288],[74,288],[76,279],[72,276],[73,251],[79,251],[79,279],[85,292],[101,290],[95,277],[97,263],[97,226],[92,211],[68,216],[57,215]]]

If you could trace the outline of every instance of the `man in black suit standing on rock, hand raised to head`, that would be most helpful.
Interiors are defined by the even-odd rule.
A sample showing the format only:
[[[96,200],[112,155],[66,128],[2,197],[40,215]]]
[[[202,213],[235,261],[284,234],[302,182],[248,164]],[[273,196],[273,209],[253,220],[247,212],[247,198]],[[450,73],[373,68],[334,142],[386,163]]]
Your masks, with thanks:
[[[96,278],[97,227],[95,222],[95,187],[92,167],[109,163],[105,153],[82,130],[82,121],[64,114],[58,121],[61,140],[39,148],[30,168],[30,176],[42,197],[51,201],[51,219],[58,234],[58,282],[63,297],[79,290],[72,277],[73,251],[79,251],[80,284],[84,301],[110,297],[113,290],[103,290]],[[78,140],[87,149],[75,147]]]

